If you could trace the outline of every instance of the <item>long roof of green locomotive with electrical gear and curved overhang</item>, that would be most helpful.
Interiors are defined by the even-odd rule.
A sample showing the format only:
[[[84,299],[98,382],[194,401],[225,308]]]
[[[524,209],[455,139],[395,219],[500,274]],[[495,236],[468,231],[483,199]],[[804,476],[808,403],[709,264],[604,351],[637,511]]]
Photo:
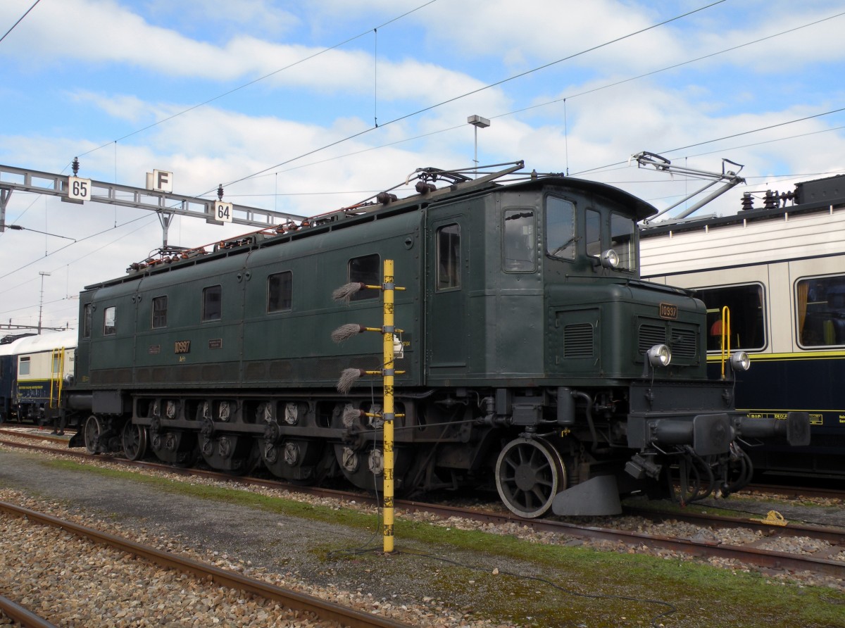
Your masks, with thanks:
[[[530,175],[522,175],[520,180],[511,181],[507,183],[499,183],[496,179],[503,177],[510,172],[515,172],[523,167],[522,161],[514,162],[515,166],[505,168],[499,172],[493,172],[475,179],[464,176],[461,171],[442,171],[438,168],[418,168],[417,177],[421,182],[429,181],[443,181],[449,180],[451,185],[443,186],[441,188],[426,188],[423,192],[412,194],[403,199],[397,199],[395,195],[383,192],[378,194],[373,199],[368,199],[369,202],[355,205],[350,208],[331,211],[327,214],[313,216],[303,220],[301,225],[293,226],[276,226],[263,229],[259,232],[245,234],[239,238],[233,238],[228,241],[215,243],[212,252],[206,251],[205,247],[194,249],[179,249],[172,251],[173,257],[162,252],[163,259],[146,259],[139,264],[131,265],[128,270],[128,275],[112,280],[102,281],[101,283],[86,286],[86,290],[94,289],[105,285],[112,285],[123,281],[131,281],[141,276],[141,274],[153,273],[157,271],[164,271],[170,267],[174,262],[184,263],[186,260],[199,259],[204,256],[218,253],[221,248],[240,248],[244,245],[256,245],[259,242],[266,242],[274,240],[283,242],[291,238],[307,238],[312,235],[326,232],[331,229],[333,223],[338,221],[354,220],[363,216],[372,216],[373,214],[383,214],[385,212],[401,213],[412,210],[422,210],[430,205],[436,205],[444,202],[451,202],[455,199],[461,199],[469,196],[478,196],[482,194],[491,194],[494,192],[510,191],[510,190],[531,190],[542,189],[549,186],[561,188],[574,188],[585,194],[597,194],[613,202],[619,203],[627,207],[631,211],[631,216],[636,221],[645,220],[649,216],[657,214],[657,208],[645,200],[630,194],[623,189],[614,188],[607,183],[599,183],[597,181],[589,181],[587,179],[579,179],[575,177],[566,177],[562,173],[537,174],[532,172]],[[404,183],[408,183],[408,181]],[[419,188],[417,183],[417,189]],[[398,187],[398,186],[396,186]],[[391,188],[395,189],[395,188]],[[225,253],[224,253],[225,254]],[[216,257],[216,255],[212,255]],[[181,264],[179,264],[181,265]]]

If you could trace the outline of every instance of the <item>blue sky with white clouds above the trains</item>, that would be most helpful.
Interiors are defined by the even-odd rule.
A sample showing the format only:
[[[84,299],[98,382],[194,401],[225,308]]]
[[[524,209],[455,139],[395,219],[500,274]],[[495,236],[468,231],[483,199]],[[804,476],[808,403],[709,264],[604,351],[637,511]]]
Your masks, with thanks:
[[[165,170],[177,194],[222,183],[313,216],[417,167],[472,167],[478,114],[481,165],[658,209],[703,183],[632,154],[743,164],[747,183],[700,212],[727,214],[745,191],[845,172],[843,29],[841,0],[3,0],[0,164],[68,175],[79,156],[80,177],[137,187]],[[148,210],[15,192],[6,221],[25,229],[0,233],[3,324],[37,325],[43,303],[43,325],[75,326],[81,287],[161,246]],[[168,239],[246,231],[177,218]]]

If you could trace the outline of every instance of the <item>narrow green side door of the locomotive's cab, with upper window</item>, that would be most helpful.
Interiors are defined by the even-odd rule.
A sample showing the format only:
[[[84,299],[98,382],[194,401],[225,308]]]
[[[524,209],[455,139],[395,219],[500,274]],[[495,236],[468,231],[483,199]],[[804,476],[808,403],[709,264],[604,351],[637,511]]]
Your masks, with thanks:
[[[428,376],[450,378],[465,374],[469,360],[471,337],[466,321],[468,216],[429,215],[428,236]]]

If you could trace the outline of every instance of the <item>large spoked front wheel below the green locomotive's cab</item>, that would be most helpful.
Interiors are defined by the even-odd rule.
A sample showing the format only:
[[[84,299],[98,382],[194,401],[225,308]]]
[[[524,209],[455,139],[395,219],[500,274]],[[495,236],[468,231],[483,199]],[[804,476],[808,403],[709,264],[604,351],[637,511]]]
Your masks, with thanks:
[[[496,461],[496,488],[515,515],[542,516],[552,507],[554,496],[566,488],[564,462],[545,440],[511,440]]]

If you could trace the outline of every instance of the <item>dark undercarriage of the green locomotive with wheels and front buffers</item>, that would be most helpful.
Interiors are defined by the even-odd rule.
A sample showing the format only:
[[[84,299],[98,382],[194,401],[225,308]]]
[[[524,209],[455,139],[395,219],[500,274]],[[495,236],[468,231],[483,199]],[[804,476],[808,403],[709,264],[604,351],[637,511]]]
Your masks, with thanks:
[[[750,479],[727,413],[668,412],[653,399],[648,412],[631,404],[632,390],[641,393],[558,387],[399,394],[397,494],[482,485],[520,516],[608,515],[621,511],[619,494],[667,494],[671,478],[679,478],[683,501],[728,493]],[[187,467],[201,458],[233,474],[264,466],[292,483],[342,477],[380,490],[379,401],[330,392],[145,392],[132,397],[131,412],[92,415],[81,434],[89,451],[122,451],[133,460],[151,453]],[[700,398],[686,403],[702,407]]]

